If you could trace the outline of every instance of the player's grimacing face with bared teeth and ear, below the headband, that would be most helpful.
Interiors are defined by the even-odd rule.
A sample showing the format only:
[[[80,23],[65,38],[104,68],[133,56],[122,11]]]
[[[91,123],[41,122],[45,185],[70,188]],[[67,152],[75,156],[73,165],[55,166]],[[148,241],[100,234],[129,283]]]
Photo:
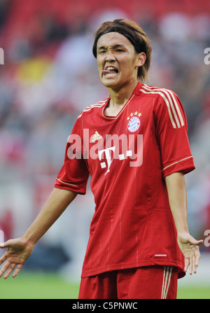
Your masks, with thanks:
[[[132,43],[118,32],[102,35],[97,42],[97,66],[102,84],[113,90],[136,84],[144,55],[137,53]]]

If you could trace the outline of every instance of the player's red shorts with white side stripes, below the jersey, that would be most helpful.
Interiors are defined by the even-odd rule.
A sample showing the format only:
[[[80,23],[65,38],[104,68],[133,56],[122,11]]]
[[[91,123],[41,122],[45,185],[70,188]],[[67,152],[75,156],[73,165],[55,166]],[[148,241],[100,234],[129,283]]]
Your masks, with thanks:
[[[148,266],[84,277],[78,299],[176,299],[178,273],[172,266]]]

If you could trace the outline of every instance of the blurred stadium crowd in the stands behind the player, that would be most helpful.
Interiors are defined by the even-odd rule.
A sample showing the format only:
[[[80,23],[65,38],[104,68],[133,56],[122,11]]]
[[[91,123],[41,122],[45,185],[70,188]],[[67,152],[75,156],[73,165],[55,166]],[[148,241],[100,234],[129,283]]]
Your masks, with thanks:
[[[108,95],[99,82],[92,42],[97,27],[115,18],[139,22],[153,47],[148,85],[174,90],[183,103],[196,165],[186,176],[190,231],[200,239],[210,229],[210,64],[204,63],[209,0],[1,0],[0,229],[5,239],[22,235],[41,209],[80,111]],[[94,203],[90,192],[75,201],[43,246],[62,242],[67,256],[77,260]]]

